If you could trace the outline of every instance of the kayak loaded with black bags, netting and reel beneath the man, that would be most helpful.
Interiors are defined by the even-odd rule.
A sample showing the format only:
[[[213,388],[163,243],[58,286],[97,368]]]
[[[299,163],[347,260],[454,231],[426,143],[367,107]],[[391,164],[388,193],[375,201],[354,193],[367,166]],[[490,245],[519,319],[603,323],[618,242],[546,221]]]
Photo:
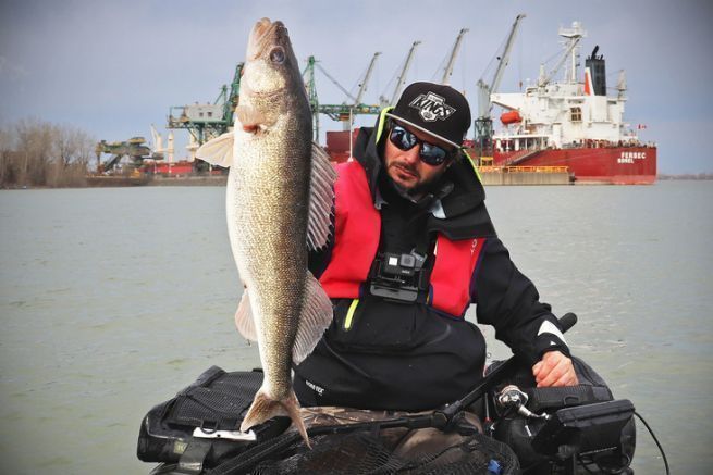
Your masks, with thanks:
[[[159,463],[151,475],[632,473],[634,405],[614,400],[591,367],[573,360],[574,387],[536,388],[529,372],[500,362],[483,379],[488,390],[467,405],[303,408],[311,449],[287,417],[238,432],[262,373],[212,366],[149,411],[137,455]]]

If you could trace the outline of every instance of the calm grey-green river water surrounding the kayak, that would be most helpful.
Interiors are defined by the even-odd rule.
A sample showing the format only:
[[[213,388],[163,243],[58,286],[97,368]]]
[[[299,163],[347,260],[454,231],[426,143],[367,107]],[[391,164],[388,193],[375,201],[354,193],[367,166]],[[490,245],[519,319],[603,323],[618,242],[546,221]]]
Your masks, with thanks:
[[[713,183],[488,196],[542,300],[579,315],[573,350],[635,402],[674,473],[708,472]],[[200,187],[0,192],[0,472],[148,473],[135,449],[152,405],[211,364],[259,364],[233,327],[239,287],[223,197]],[[634,467],[663,473],[640,424]]]

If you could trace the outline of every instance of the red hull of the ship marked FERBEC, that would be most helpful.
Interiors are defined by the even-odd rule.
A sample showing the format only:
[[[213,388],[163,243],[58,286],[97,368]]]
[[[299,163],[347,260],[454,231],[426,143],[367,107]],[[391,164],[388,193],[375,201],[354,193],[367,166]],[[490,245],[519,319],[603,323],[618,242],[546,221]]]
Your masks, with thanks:
[[[655,147],[604,147],[493,154],[495,166],[567,166],[575,183],[650,185],[656,180]]]

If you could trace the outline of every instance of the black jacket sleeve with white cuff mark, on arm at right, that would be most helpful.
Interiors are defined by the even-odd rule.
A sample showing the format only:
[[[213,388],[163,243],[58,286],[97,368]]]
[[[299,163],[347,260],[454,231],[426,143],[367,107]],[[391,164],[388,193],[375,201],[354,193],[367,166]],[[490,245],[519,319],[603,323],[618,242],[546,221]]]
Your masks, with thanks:
[[[530,365],[552,350],[569,357],[560,323],[532,282],[511,260],[497,238],[489,238],[471,282],[471,301],[476,303],[478,323],[495,327],[495,338]]]

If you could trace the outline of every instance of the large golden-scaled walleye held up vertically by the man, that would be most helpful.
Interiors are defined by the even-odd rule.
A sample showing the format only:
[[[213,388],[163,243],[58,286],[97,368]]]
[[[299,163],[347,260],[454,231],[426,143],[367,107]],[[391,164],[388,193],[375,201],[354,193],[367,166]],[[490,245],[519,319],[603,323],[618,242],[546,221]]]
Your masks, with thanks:
[[[291,368],[332,320],[332,304],[307,270],[307,251],[327,243],[336,178],[311,136],[287,29],[262,18],[248,40],[234,129],[205,143],[197,157],[230,166],[228,229],[246,287],[235,323],[258,341],[265,373],[241,430],[288,415],[307,445]]]

